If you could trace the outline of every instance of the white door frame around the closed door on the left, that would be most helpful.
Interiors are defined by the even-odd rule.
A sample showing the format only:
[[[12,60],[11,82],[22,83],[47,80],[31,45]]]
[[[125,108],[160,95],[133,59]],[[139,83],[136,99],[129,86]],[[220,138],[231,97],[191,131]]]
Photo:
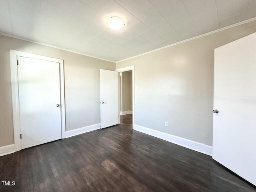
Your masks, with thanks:
[[[11,86],[12,86],[12,117],[13,117],[13,132],[15,151],[21,150],[20,139],[20,103],[19,103],[19,88],[18,88],[18,68],[17,57],[27,57],[40,59],[60,64],[60,109],[61,109],[61,138],[66,138],[66,122],[65,122],[65,94],[64,94],[64,62],[62,59],[51,58],[36,54],[31,54],[22,51],[10,50],[10,69],[11,69]]]

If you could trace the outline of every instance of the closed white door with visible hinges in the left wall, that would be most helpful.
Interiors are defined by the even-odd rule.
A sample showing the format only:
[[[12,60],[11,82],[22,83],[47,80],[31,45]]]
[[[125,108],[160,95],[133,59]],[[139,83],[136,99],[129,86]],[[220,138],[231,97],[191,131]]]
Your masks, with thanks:
[[[17,59],[22,149],[61,139],[59,63]]]

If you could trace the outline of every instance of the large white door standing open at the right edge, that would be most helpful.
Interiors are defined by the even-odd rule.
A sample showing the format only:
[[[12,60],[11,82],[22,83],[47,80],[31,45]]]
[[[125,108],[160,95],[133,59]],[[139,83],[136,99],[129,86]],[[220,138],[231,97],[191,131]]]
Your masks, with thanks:
[[[212,158],[256,185],[256,33],[214,54]]]

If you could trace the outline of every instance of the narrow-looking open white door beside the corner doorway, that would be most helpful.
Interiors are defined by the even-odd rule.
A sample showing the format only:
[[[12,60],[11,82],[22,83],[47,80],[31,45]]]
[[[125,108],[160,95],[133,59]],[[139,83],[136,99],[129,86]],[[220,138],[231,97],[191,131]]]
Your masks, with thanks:
[[[118,124],[118,72],[100,69],[100,124]]]

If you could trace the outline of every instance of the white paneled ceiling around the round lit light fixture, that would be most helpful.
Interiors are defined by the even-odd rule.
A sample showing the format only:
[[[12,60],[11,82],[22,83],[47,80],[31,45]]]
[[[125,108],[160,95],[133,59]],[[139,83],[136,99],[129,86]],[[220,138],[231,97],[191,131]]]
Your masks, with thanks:
[[[254,17],[256,0],[0,0],[0,32],[113,62]]]

